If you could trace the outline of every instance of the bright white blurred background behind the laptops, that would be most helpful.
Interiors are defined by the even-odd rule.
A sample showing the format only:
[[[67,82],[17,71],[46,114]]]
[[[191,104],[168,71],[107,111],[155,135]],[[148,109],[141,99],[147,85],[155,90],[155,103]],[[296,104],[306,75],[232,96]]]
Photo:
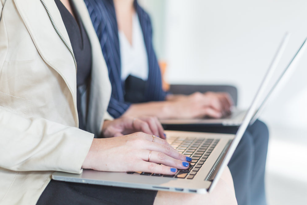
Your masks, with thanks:
[[[166,80],[231,84],[247,108],[286,31],[283,69],[307,37],[306,0],[142,0],[151,14]],[[307,204],[307,52],[273,93],[261,119],[270,129],[266,166],[269,204]]]

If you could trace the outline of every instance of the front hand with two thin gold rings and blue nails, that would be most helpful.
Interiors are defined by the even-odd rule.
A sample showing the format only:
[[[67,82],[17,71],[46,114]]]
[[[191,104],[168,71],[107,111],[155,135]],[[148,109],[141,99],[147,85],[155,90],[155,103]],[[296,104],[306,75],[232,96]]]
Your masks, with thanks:
[[[126,136],[94,139],[82,168],[173,175],[177,169],[187,169],[191,160],[177,152],[165,140],[155,137],[153,142],[152,135],[137,132]]]

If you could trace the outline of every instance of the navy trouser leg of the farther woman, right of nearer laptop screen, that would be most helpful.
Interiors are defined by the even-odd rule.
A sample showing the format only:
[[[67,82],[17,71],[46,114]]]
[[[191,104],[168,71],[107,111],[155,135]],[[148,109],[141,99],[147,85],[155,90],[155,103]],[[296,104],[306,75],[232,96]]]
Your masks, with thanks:
[[[256,120],[244,133],[228,167],[230,169],[238,205],[265,205],[264,172],[269,131]]]

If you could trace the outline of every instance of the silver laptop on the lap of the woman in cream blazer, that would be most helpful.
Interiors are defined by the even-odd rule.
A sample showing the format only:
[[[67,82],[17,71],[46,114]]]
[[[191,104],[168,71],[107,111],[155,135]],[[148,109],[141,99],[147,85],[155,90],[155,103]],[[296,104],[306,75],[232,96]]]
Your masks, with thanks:
[[[255,116],[258,103],[261,103],[270,77],[270,75],[265,76],[235,135],[165,131],[167,141],[178,152],[192,157],[192,162],[187,170],[178,170],[175,175],[161,175],[146,172],[107,172],[84,169],[81,174],[56,171],[52,174],[52,179],[185,193],[211,191],[227,166],[247,126]]]

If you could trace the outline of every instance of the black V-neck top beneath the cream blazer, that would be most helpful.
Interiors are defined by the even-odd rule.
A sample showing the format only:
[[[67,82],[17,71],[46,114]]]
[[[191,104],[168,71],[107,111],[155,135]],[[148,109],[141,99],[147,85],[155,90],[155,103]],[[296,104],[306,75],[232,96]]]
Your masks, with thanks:
[[[72,6],[72,10],[76,19],[72,16],[72,14],[69,13],[69,11],[66,9],[66,7],[62,4],[60,0],[54,1],[60,11],[62,20],[69,36],[69,40],[72,45],[72,50],[77,61],[77,110],[79,117],[79,128],[85,130],[85,122],[83,120],[84,117],[81,111],[81,96],[83,94],[83,91],[81,91],[80,87],[84,85],[86,86],[91,76],[91,44],[87,33],[84,30],[78,12],[76,12],[76,8],[74,7],[71,0],[69,0],[69,2]]]

